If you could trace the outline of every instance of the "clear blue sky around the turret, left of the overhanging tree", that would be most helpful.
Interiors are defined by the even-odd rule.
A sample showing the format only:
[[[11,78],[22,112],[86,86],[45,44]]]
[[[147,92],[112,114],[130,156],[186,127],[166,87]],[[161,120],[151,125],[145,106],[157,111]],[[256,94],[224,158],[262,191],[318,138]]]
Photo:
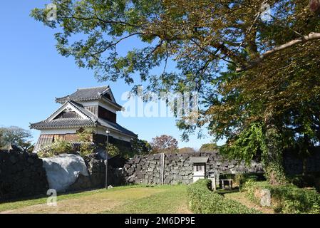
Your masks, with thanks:
[[[55,97],[73,93],[76,88],[110,85],[120,105],[126,101],[121,95],[130,90],[123,81],[98,83],[93,71],[78,68],[73,58],[60,56],[56,51],[54,30],[33,20],[29,14],[35,7],[50,1],[3,1],[0,7],[0,125],[16,125],[29,129],[51,115],[59,105]],[[130,45],[138,45],[130,43]],[[125,46],[122,47],[126,51]],[[189,142],[180,140],[181,132],[175,127],[175,118],[125,118],[118,113],[118,123],[150,141],[157,135],[172,135],[179,147],[199,148],[212,138]],[[37,140],[38,130],[31,130]]]

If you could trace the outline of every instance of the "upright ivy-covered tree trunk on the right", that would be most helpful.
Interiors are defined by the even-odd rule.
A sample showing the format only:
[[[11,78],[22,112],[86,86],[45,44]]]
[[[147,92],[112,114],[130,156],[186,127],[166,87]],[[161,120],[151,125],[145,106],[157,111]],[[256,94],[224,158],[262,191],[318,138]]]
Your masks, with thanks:
[[[264,172],[271,185],[283,185],[286,182],[282,141],[279,130],[274,125],[275,120],[272,112],[265,119],[266,124],[266,152],[264,154]]]

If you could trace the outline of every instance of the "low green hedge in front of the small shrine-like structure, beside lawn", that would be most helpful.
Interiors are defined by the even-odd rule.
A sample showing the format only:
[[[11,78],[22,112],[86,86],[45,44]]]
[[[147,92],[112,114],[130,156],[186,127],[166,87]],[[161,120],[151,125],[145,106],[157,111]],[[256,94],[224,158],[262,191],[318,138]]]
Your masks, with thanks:
[[[187,189],[192,212],[201,214],[257,214],[255,209],[249,209],[232,199],[211,192],[208,186],[211,181],[198,180]]]

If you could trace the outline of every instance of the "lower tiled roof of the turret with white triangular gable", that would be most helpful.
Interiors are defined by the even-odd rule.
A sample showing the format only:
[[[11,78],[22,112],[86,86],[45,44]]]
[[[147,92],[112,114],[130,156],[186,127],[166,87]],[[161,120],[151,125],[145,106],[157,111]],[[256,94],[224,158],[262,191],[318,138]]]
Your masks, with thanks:
[[[59,113],[63,112],[67,107],[72,107],[78,113],[82,113],[84,118],[64,118],[64,119],[54,119]],[[103,120],[93,115],[91,111],[86,110],[83,105],[76,103],[73,100],[64,103],[55,113],[53,113],[49,118],[38,123],[32,123],[30,128],[42,130],[42,129],[55,129],[55,128],[81,128],[81,127],[96,127],[102,126],[110,130],[114,130],[118,133],[123,133],[125,135],[130,135],[132,137],[137,137],[132,131],[123,128],[118,125],[118,123],[112,123],[108,120]]]

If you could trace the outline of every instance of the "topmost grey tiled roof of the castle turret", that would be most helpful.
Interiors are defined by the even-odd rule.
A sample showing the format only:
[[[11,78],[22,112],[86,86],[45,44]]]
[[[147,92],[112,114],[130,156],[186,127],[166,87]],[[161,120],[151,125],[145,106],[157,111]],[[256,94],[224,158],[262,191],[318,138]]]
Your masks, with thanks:
[[[110,95],[110,99],[105,98],[105,94]],[[78,88],[76,92],[71,95],[66,95],[62,98],[56,98],[57,103],[66,103],[68,100],[73,101],[85,101],[85,100],[104,100],[107,103],[115,105],[118,109],[121,109],[121,105],[116,103],[110,86],[100,86],[92,88]]]

